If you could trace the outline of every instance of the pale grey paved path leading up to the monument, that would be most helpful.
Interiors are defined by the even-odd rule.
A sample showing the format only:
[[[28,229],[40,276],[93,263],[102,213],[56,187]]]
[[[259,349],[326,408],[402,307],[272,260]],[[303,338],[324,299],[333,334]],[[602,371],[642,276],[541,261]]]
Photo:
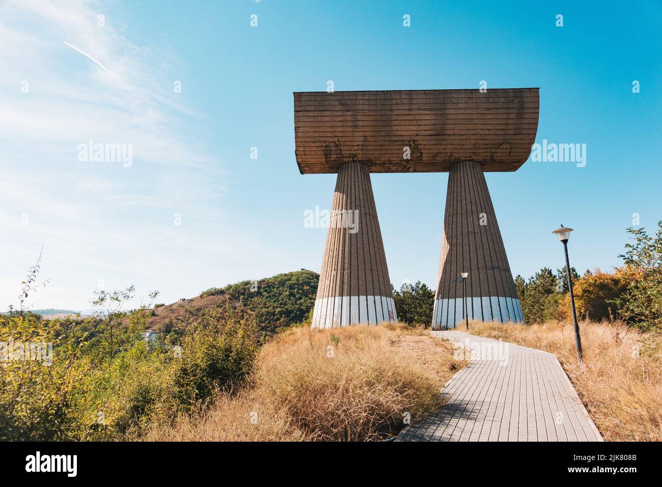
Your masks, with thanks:
[[[553,354],[461,331],[430,333],[457,343],[469,364],[442,391],[446,406],[396,441],[603,441]]]

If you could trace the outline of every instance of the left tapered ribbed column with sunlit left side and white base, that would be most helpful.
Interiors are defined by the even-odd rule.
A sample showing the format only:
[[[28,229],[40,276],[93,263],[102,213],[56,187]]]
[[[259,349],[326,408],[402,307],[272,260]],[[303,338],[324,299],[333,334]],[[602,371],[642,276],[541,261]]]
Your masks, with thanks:
[[[397,321],[370,173],[360,162],[338,169],[313,328]]]

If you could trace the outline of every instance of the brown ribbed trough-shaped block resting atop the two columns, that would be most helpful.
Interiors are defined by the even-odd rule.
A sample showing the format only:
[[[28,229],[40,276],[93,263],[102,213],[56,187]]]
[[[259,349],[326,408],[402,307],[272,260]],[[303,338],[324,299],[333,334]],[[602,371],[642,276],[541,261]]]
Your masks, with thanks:
[[[370,172],[447,172],[460,160],[515,171],[536,140],[539,107],[538,88],[294,93],[297,164],[301,174],[349,160]]]

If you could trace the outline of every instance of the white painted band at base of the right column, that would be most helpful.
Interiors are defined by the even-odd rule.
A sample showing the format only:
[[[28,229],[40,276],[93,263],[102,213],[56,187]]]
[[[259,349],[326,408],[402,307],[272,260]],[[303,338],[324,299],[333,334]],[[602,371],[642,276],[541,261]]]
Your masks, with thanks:
[[[469,320],[498,321],[499,323],[524,323],[522,306],[519,299],[502,296],[467,296],[467,314]],[[455,328],[464,319],[464,299],[436,299],[432,313],[435,328]]]

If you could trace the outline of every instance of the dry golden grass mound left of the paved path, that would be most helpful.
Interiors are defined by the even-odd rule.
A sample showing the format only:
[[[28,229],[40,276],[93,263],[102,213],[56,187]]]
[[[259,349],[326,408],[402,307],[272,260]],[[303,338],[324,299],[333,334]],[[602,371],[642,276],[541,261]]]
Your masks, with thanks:
[[[147,439],[381,439],[404,427],[406,413],[415,421],[440,407],[440,391],[464,364],[420,329],[291,329],[262,349],[250,388]]]

